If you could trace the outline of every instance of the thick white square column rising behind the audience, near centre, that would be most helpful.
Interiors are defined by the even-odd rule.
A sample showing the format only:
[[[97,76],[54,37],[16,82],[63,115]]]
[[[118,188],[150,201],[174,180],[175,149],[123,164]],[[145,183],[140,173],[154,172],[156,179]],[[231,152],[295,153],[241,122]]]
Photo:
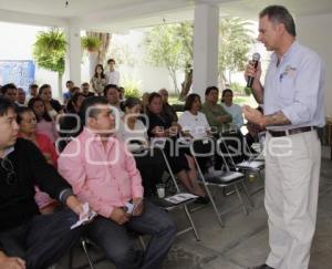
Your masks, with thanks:
[[[218,82],[219,7],[196,4],[194,23],[193,91],[204,97],[206,87]]]

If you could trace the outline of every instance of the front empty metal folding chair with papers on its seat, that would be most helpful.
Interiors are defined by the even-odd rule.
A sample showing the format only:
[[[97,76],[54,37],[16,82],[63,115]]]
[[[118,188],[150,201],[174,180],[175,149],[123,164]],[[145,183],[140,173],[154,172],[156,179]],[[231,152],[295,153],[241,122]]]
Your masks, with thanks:
[[[164,161],[165,161],[165,164],[166,164],[166,167],[167,167],[167,172],[170,175],[170,178],[172,178],[172,182],[173,182],[173,184],[175,186],[176,193],[177,194],[183,194],[183,192],[179,189],[179,186],[178,186],[178,184],[176,182],[175,175],[174,175],[174,173],[173,173],[173,170],[170,168],[169,162],[168,162],[168,159],[166,157],[166,154],[164,152],[164,144],[163,143],[155,143],[154,145],[155,145],[156,148],[159,148],[160,152],[162,152],[162,155],[164,157]],[[178,231],[177,236],[183,235],[183,234],[185,234],[187,231],[193,230],[194,234],[195,234],[196,240],[199,241],[200,237],[199,237],[198,230],[197,230],[197,228],[195,226],[195,223],[194,223],[193,217],[190,215],[190,211],[188,209],[188,205],[193,204],[196,199],[197,198],[191,198],[191,199],[185,200],[184,203],[175,204],[175,205],[172,205],[172,204],[169,204],[167,201],[165,203],[164,199],[162,199],[162,200],[159,199],[159,201],[155,200],[155,204],[158,205],[159,207],[164,208],[167,211],[174,210],[176,208],[184,208],[184,210],[186,213],[186,216],[187,216],[190,225],[189,225],[189,227],[187,227],[187,228]]]

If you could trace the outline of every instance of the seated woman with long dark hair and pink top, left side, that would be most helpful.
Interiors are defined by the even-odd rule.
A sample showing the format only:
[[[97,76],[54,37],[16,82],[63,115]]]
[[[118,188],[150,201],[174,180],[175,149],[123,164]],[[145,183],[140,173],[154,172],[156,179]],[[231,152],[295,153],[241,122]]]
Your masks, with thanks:
[[[55,122],[49,115],[44,102],[40,97],[32,97],[28,107],[31,108],[37,118],[37,132],[46,135],[54,144],[59,137]]]

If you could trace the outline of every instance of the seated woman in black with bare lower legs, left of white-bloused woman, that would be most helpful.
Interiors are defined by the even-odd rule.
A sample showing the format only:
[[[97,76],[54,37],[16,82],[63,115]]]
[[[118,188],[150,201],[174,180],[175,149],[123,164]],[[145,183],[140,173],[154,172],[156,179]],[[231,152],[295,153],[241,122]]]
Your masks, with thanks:
[[[162,96],[155,92],[148,97],[148,136],[167,138],[165,139],[164,152],[172,170],[189,193],[200,196],[199,201],[208,203],[205,190],[196,182],[197,175],[193,157],[185,154],[183,147],[177,147],[180,126],[163,113]]]

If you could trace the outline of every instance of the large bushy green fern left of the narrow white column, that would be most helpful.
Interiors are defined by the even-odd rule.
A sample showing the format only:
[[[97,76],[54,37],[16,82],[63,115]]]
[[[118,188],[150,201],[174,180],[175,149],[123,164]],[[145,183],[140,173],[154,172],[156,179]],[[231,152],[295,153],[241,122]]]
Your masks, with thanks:
[[[33,58],[37,65],[58,73],[58,85],[61,96],[66,44],[65,35],[59,28],[39,32],[33,44]]]

